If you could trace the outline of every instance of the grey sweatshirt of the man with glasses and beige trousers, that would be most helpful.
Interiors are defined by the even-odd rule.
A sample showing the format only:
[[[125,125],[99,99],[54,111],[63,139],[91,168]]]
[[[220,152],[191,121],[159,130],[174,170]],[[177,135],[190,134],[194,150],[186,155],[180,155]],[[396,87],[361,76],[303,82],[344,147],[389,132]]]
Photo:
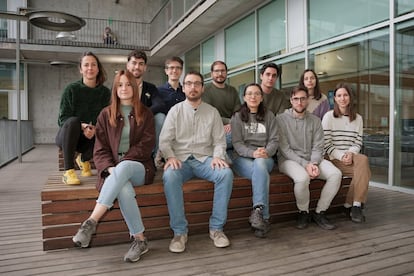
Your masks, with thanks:
[[[318,164],[323,160],[323,128],[321,120],[305,112],[303,118],[295,118],[293,110],[286,109],[277,115],[279,130],[278,162],[296,161],[305,167],[308,163]]]

